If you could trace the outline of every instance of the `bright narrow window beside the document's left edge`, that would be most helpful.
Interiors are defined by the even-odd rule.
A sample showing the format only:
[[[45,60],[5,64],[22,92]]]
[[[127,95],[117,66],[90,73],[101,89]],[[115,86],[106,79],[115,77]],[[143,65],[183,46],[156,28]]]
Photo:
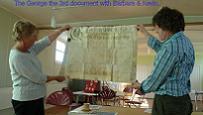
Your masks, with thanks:
[[[55,61],[57,63],[63,62],[66,49],[67,32],[63,32],[56,40]]]

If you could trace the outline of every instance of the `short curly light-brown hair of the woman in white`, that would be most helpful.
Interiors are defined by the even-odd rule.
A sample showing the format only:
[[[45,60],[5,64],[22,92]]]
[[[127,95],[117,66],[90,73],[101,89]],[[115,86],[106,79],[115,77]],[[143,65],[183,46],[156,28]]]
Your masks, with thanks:
[[[12,37],[16,41],[22,40],[23,37],[32,35],[37,28],[30,22],[17,21],[13,26]]]

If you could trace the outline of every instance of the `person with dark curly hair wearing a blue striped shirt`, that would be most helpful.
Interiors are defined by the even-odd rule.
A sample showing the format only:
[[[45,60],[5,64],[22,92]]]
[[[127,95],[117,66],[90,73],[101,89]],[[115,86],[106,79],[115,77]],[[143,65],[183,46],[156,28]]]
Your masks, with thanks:
[[[151,75],[145,79],[137,94],[155,92],[152,115],[191,115],[190,74],[194,66],[194,49],[184,35],[183,14],[163,7],[153,17],[159,40],[143,25],[137,28],[148,38],[148,45],[156,52]]]

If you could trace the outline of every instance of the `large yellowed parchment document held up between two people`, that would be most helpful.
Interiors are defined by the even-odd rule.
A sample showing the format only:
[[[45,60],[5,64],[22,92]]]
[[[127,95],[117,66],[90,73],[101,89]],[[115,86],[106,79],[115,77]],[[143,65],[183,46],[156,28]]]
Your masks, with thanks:
[[[135,26],[73,28],[70,37],[61,75],[117,82],[136,79]]]

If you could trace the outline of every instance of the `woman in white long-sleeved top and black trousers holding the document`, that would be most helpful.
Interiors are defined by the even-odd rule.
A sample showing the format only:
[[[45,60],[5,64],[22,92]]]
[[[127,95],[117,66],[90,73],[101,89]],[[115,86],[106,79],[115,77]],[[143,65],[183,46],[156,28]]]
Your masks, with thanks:
[[[14,24],[16,44],[10,51],[9,65],[13,81],[12,104],[16,115],[44,115],[45,83],[52,80],[62,82],[65,77],[43,74],[37,54],[70,28],[64,26],[38,40],[38,30],[30,22],[18,21]]]

